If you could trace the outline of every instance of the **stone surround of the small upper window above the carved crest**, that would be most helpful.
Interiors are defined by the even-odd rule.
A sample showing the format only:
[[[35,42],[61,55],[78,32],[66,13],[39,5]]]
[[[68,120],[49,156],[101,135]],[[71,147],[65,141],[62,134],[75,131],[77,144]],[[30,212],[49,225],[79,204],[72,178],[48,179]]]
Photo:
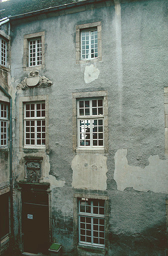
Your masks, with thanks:
[[[29,58],[29,40],[41,37],[41,52],[42,52],[42,59],[41,65],[37,66],[28,66],[28,58]],[[45,31],[31,33],[31,34],[24,34],[24,46],[23,46],[23,70],[30,71],[30,70],[37,70],[42,69],[45,67],[45,58],[44,58],[44,39],[45,39]]]

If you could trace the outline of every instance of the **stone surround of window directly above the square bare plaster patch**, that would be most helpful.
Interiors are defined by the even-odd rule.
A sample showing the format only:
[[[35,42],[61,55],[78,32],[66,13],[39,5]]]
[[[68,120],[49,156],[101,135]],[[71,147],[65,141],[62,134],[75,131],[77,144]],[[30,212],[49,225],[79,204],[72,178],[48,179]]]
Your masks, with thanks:
[[[77,99],[91,97],[103,97],[104,102],[104,148],[77,148]],[[85,91],[72,93],[72,145],[76,152],[95,152],[106,153],[108,151],[108,104],[107,104],[107,90],[100,91]]]

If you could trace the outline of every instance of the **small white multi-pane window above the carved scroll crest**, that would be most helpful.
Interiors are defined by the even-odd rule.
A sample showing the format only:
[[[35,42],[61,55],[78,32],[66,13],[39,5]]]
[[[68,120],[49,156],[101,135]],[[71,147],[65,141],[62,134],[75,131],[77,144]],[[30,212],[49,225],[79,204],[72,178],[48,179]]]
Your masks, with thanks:
[[[29,66],[41,65],[41,38],[29,40]]]

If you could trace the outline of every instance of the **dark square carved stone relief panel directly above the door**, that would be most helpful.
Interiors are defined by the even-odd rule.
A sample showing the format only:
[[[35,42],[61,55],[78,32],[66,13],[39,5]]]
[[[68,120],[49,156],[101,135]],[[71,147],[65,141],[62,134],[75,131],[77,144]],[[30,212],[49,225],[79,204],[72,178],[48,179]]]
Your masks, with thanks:
[[[25,176],[24,180],[30,183],[42,182],[42,157],[24,157],[25,160]]]

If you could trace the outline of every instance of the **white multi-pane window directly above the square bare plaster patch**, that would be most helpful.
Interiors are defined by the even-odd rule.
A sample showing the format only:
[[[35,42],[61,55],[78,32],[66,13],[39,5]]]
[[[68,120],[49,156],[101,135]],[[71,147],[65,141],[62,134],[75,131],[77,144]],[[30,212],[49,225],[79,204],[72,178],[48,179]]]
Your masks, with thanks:
[[[78,146],[104,146],[103,98],[78,100]]]

